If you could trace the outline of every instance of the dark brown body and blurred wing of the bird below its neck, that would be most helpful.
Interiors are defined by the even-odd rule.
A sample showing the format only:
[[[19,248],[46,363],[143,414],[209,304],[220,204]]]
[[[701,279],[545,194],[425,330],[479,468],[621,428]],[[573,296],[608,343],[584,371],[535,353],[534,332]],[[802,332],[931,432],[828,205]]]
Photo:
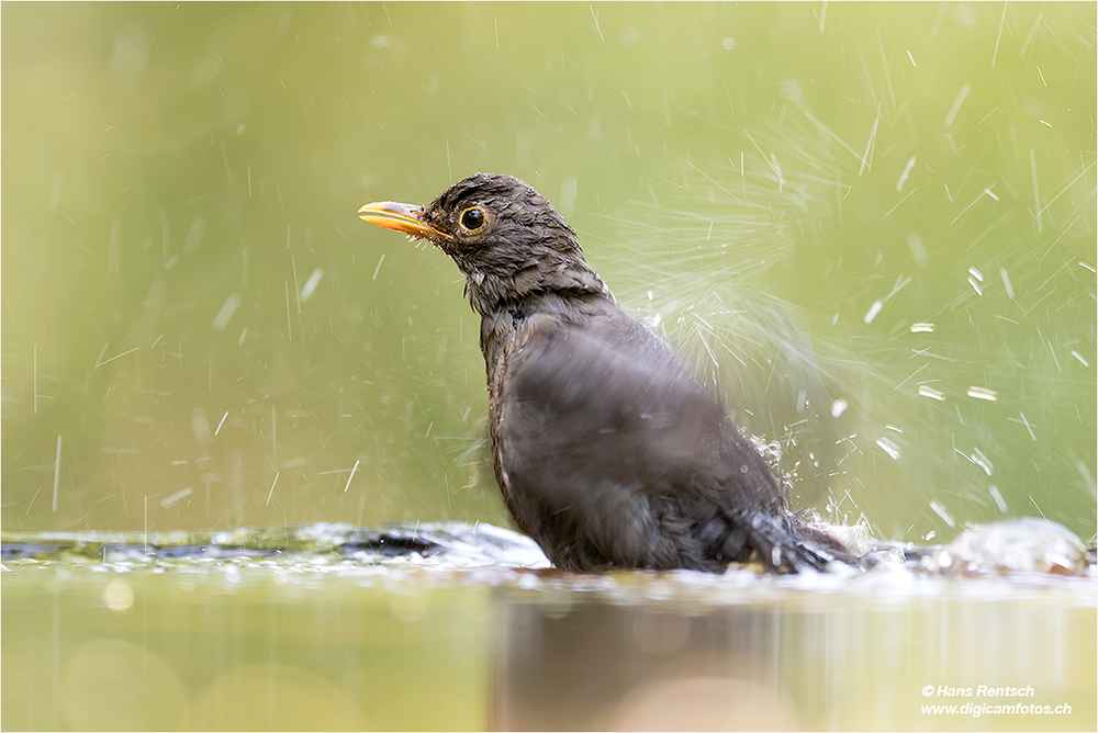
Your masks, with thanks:
[[[483,336],[496,475],[556,565],[829,560],[804,556],[777,480],[725,406],[608,295],[530,298]]]

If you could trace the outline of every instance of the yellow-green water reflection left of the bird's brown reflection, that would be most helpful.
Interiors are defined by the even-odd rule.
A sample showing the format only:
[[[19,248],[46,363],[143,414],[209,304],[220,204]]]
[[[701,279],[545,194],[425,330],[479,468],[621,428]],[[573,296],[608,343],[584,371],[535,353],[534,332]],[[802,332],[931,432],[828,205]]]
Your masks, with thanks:
[[[0,728],[483,728],[483,587],[236,560],[9,562]]]

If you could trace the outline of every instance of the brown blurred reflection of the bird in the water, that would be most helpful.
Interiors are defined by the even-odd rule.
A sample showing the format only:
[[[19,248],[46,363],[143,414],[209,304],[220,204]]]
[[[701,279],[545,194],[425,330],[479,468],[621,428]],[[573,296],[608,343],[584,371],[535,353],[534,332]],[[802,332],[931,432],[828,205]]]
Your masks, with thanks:
[[[795,730],[773,609],[504,606],[495,730]]]

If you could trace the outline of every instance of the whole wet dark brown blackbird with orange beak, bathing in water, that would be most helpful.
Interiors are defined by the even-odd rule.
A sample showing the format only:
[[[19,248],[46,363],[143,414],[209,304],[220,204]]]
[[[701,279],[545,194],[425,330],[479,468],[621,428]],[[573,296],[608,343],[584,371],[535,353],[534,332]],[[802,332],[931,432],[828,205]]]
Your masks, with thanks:
[[[452,259],[481,316],[492,458],[519,530],[573,572],[851,562],[789,511],[770,464],[587,264],[537,191],[477,173],[359,215]]]

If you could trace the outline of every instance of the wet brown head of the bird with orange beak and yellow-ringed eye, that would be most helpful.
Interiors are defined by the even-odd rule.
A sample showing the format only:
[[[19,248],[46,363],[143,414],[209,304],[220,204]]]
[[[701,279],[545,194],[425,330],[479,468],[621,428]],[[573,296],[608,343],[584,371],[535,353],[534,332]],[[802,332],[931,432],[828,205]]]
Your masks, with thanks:
[[[426,206],[384,201],[358,214],[449,255],[482,314],[539,292],[605,290],[564,217],[511,176],[477,173]]]

